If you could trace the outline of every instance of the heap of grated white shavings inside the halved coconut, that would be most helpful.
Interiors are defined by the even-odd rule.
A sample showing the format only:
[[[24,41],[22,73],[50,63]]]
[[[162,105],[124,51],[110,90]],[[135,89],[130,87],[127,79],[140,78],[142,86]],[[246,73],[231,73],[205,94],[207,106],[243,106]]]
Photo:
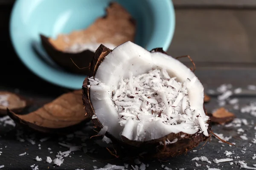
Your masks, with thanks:
[[[90,84],[95,81],[89,80]],[[194,124],[194,128],[201,127],[207,133],[208,124],[204,122],[209,117],[189,107],[188,82],[177,82],[165,69],[151,70],[137,77],[130,73],[130,78],[121,79],[112,95],[120,125],[124,126],[128,119],[137,122],[160,120],[166,125]]]

